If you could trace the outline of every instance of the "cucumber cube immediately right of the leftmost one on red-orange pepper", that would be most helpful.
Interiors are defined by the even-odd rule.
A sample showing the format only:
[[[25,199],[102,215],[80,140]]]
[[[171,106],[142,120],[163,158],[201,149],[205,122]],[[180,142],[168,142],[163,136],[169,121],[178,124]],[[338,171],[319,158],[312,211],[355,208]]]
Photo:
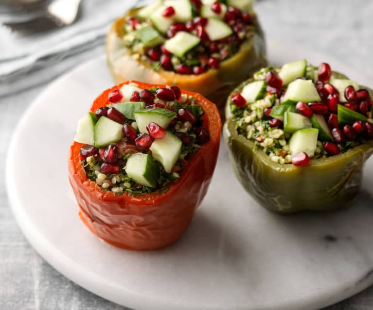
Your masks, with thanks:
[[[106,116],[101,116],[94,126],[94,146],[106,147],[111,143],[118,142],[122,139],[123,125],[112,121]]]

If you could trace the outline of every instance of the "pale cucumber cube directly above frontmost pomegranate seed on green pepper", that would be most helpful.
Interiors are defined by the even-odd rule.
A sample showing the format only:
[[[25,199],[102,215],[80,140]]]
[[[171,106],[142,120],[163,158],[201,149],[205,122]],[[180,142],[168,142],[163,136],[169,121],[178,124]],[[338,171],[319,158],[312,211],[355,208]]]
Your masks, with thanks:
[[[289,140],[289,149],[292,156],[304,152],[309,157],[315,155],[317,147],[317,137],[319,130],[307,128],[295,131]]]

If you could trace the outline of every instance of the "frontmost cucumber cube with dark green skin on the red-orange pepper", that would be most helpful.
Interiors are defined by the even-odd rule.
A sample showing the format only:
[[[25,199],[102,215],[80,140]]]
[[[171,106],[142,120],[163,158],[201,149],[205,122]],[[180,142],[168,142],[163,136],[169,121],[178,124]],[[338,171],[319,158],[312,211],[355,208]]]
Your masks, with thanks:
[[[157,187],[160,175],[158,164],[149,154],[136,153],[127,159],[127,175],[143,186]]]

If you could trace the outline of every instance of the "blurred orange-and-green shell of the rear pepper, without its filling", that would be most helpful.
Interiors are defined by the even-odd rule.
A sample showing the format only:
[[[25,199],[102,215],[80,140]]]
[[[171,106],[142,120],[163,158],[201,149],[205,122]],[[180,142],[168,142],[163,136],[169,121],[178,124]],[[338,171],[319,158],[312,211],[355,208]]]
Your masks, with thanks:
[[[156,72],[147,61],[134,60],[130,50],[123,45],[123,22],[127,16],[135,16],[139,9],[133,9],[126,16],[117,19],[107,34],[107,64],[118,83],[138,80],[152,84],[177,85],[181,89],[205,96],[219,110],[223,110],[231,90],[267,64],[264,33],[259,23],[256,23],[254,35],[241,44],[234,56],[223,61],[219,69],[210,69],[200,75],[182,75],[162,68]]]

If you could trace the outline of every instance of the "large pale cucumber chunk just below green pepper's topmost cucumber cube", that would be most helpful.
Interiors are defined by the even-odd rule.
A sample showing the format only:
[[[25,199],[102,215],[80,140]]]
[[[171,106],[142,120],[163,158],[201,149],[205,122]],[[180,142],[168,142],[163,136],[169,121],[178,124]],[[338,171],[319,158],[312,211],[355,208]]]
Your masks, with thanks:
[[[311,80],[295,80],[286,89],[284,103],[297,103],[298,101],[312,102],[321,101],[319,93]]]

